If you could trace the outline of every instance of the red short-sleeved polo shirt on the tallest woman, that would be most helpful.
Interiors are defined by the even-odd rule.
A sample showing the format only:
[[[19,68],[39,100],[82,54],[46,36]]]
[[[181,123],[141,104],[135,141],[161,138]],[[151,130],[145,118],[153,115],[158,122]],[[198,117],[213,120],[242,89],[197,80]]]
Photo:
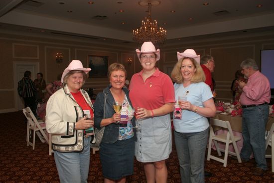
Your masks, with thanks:
[[[141,70],[132,76],[129,87],[134,107],[152,110],[165,103],[175,102],[173,83],[168,75],[156,68],[156,71],[143,81],[142,72]]]

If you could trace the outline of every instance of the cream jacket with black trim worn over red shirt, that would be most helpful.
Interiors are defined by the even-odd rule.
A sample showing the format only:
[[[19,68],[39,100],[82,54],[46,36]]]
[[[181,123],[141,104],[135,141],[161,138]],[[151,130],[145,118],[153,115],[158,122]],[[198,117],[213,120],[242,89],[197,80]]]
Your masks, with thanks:
[[[81,89],[93,110],[88,93]],[[83,118],[83,110],[71,95],[67,85],[50,96],[46,107],[46,129],[52,134],[52,149],[58,152],[80,152],[84,148],[84,130],[75,130]]]

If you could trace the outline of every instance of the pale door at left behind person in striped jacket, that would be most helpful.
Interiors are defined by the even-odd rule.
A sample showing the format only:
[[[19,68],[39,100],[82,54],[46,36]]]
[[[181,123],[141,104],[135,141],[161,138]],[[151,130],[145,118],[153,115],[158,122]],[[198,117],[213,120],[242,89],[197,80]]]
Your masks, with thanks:
[[[24,108],[24,102],[17,92],[18,81],[24,77],[24,72],[27,70],[31,72],[31,79],[33,81],[39,70],[39,62],[13,62],[14,101],[15,110],[17,111]]]

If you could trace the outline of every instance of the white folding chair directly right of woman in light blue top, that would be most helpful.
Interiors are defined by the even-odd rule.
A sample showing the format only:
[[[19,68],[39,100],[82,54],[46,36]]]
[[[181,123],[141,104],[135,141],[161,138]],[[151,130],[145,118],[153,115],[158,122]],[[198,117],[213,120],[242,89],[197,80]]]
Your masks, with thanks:
[[[225,134],[218,134],[215,135],[213,131],[213,126],[218,126],[226,129],[228,132]],[[241,140],[241,137],[237,137],[233,135],[231,126],[229,121],[223,121],[223,120],[218,120],[218,119],[210,119],[210,133],[209,133],[209,144],[208,144],[208,153],[207,153],[207,160],[209,161],[210,159],[216,160],[218,162],[223,163],[224,167],[227,166],[227,158],[228,154],[236,156],[238,159],[239,163],[242,163],[242,160],[240,158],[239,150],[237,147],[236,142]],[[211,155],[211,148],[212,148],[212,141],[215,144],[216,150],[218,152],[219,157],[222,156],[221,151],[225,153],[224,159],[221,159],[219,157],[215,157]],[[225,143],[225,149],[220,149],[217,141]],[[229,151],[229,145],[233,144],[234,152]]]

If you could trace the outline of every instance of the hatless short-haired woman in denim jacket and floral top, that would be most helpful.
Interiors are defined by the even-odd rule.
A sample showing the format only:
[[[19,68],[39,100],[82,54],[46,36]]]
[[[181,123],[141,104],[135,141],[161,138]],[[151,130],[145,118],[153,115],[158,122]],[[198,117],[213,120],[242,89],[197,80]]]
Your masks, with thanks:
[[[111,64],[108,77],[110,85],[97,95],[94,103],[95,128],[105,127],[100,160],[104,183],[126,183],[126,176],[134,172],[136,132],[129,90],[124,87],[127,77],[124,65]],[[114,102],[122,103],[120,113],[115,112]]]

